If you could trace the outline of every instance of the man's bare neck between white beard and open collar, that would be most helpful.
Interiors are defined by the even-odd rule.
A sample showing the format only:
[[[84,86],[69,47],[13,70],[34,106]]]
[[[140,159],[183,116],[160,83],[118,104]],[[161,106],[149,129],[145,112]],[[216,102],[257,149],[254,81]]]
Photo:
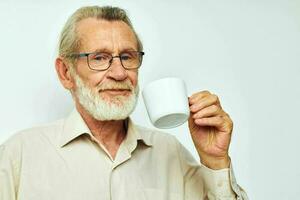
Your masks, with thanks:
[[[118,147],[126,136],[125,120],[99,121],[93,118],[80,104],[76,108],[93,136],[107,149]]]

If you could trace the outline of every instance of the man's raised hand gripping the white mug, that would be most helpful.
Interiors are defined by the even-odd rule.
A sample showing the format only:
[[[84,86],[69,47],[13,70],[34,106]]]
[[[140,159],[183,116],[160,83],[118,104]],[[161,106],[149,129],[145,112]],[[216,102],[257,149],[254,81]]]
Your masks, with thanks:
[[[228,168],[232,120],[219,98],[208,91],[189,97],[189,129],[201,163],[211,169]]]

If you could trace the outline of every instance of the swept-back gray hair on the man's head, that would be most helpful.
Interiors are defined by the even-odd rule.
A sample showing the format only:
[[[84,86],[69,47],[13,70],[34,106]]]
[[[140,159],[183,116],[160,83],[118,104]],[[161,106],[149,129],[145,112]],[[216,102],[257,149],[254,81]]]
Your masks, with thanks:
[[[77,34],[77,24],[79,21],[86,18],[96,18],[104,19],[107,21],[123,21],[125,22],[133,31],[136,36],[138,43],[138,51],[143,50],[143,45],[139,39],[137,33],[135,32],[132,23],[129,17],[126,14],[126,11],[112,6],[87,6],[81,7],[76,10],[67,20],[64,25],[60,39],[59,39],[59,52],[58,54],[62,57],[68,58],[70,61],[74,62],[71,57],[68,57],[70,54],[76,52],[80,48],[80,38]]]

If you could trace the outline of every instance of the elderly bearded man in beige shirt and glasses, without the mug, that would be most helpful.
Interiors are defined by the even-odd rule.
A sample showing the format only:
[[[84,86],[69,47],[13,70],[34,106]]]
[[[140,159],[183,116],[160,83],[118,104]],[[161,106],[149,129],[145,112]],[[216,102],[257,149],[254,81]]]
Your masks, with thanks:
[[[68,19],[55,66],[76,109],[1,145],[1,200],[247,199],[228,155],[232,121],[216,95],[189,97],[202,165],[173,136],[131,121],[142,50],[120,8],[83,7]]]

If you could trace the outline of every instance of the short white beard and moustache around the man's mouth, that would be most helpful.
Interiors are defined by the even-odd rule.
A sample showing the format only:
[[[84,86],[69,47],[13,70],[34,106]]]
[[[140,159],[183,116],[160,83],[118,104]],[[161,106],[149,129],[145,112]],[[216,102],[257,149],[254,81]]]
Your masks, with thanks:
[[[97,86],[97,92],[94,92],[84,83],[74,69],[70,71],[76,83],[76,90],[72,91],[72,95],[78,99],[80,105],[96,120],[124,120],[135,109],[139,95],[139,85],[134,88],[129,80],[109,84],[102,83]],[[101,89],[116,88],[130,89],[131,94],[129,96],[116,95],[109,100],[105,100],[98,92]]]

